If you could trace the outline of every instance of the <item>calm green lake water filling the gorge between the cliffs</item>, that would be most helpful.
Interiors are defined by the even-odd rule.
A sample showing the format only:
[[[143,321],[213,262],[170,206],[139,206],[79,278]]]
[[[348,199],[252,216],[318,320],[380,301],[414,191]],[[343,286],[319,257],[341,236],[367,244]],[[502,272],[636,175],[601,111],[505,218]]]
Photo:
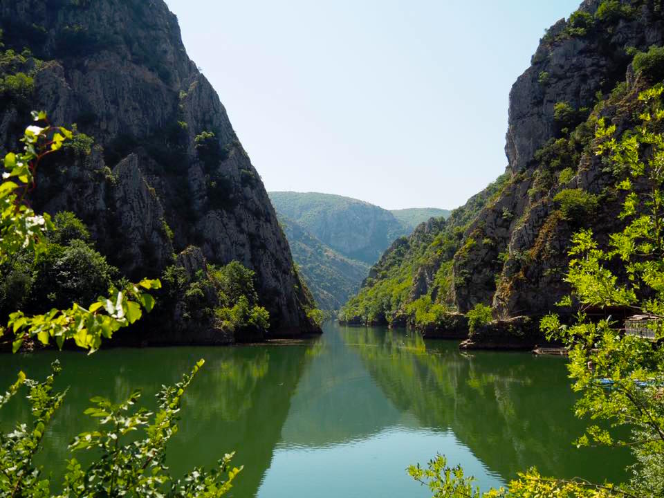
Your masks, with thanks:
[[[89,398],[118,401],[140,388],[154,407],[162,384],[205,358],[168,463],[179,475],[236,450],[244,470],[234,497],[430,497],[405,468],[436,453],[482,488],[531,465],[557,477],[625,478],[629,454],[571,444],[584,423],[571,412],[564,358],[461,353],[457,342],[384,328],[326,324],[324,332],[258,346],[5,355],[0,380],[8,385],[19,369],[37,378],[55,358],[62,363],[57,385],[70,389],[39,457],[55,477],[70,457],[67,443],[94,427],[83,415]],[[12,400],[0,426],[28,415]]]

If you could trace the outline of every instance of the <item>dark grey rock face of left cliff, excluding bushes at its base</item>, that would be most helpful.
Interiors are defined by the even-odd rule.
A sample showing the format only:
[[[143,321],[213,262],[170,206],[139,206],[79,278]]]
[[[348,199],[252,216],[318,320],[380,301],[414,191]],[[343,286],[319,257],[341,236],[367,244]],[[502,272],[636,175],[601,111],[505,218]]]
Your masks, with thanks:
[[[76,212],[130,277],[158,275],[190,245],[238,260],[275,333],[313,328],[260,177],[163,0],[0,0],[0,25],[6,46],[44,61],[30,107],[95,140],[39,172],[38,208]],[[15,146],[27,110],[0,109],[1,145]]]

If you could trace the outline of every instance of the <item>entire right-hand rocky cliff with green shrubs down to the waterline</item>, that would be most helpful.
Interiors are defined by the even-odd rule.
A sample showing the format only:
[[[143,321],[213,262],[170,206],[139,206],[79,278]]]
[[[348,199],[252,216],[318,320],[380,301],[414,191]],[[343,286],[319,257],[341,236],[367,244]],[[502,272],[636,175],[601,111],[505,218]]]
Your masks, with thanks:
[[[596,123],[605,118],[618,133],[634,125],[639,91],[664,76],[658,53],[649,73],[634,70],[634,55],[663,44],[661,1],[586,0],[557,21],[510,93],[506,173],[452,213],[421,249],[425,260],[400,263],[391,291],[407,292],[379,293],[385,279],[369,281],[344,317],[366,321],[372,309],[382,322],[414,320],[419,309],[443,324],[436,304],[462,313],[485,304],[500,319],[556,309],[569,292],[562,277],[573,232],[592,228],[606,241],[623,223],[619,178],[594,153]]]

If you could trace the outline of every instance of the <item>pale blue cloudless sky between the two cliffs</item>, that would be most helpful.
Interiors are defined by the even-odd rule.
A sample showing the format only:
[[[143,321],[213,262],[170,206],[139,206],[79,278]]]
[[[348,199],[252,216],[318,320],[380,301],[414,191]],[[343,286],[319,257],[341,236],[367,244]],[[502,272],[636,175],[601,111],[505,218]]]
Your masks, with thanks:
[[[504,172],[508,94],[580,0],[166,0],[268,190],[455,208]]]

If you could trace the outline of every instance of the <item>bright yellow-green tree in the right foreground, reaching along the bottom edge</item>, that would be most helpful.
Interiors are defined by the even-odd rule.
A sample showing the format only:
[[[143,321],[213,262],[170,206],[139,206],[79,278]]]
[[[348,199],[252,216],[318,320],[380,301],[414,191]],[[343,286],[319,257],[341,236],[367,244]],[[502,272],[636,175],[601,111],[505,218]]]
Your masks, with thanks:
[[[662,85],[640,93],[640,122],[621,136],[616,136],[615,126],[598,122],[596,154],[618,178],[618,189],[625,191],[620,214],[625,228],[611,234],[607,248],[591,230],[573,236],[566,275],[572,294],[561,304],[578,304],[578,315],[571,325],[554,314],[540,324],[549,338],[568,347],[573,389],[581,394],[575,414],[591,419],[576,443],[629,447],[636,460],[631,480],[620,485],[562,481],[530,470],[507,489],[482,494],[462,470],[438,457],[427,469],[409,468],[436,498],[664,496],[663,93]],[[645,315],[643,322],[654,339],[626,333],[611,317],[589,320],[587,311],[597,308]],[[629,438],[617,438],[611,430],[617,427],[629,429]]]

